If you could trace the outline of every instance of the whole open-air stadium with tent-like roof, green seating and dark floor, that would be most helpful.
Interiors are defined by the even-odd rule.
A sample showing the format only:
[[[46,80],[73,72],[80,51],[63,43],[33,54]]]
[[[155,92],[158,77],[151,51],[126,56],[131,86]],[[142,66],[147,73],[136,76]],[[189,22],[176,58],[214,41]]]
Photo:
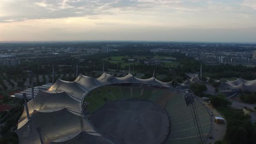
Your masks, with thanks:
[[[58,79],[46,91],[38,90],[25,104],[16,133],[20,144],[204,143],[210,115],[194,101],[196,126],[184,95],[154,76],[80,74],[74,82]]]

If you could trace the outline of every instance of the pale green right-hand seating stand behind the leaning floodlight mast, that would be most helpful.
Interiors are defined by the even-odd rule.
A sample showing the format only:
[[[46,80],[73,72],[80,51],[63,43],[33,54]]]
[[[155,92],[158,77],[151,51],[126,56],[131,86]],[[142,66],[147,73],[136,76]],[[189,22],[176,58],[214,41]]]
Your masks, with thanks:
[[[210,116],[198,101],[195,101],[197,115],[200,121],[200,131],[203,139],[210,131]],[[183,97],[177,95],[167,101],[166,111],[170,115],[171,134],[167,144],[198,144],[197,129],[195,127],[190,108],[185,105]]]

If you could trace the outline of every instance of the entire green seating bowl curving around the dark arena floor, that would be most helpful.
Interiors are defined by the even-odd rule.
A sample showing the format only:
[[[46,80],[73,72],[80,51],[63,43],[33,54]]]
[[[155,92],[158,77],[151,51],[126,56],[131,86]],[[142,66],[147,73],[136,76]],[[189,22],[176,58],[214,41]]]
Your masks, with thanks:
[[[140,88],[136,85],[102,86],[91,91],[90,95],[85,97],[85,101],[89,102],[87,111],[94,112],[104,105],[104,99],[115,101],[133,98],[154,102],[165,93],[170,95],[166,102],[165,110],[170,115],[171,121],[171,134],[167,138],[166,144],[198,144],[197,129],[190,107],[185,104],[184,93],[166,92],[162,88]],[[195,101],[195,105],[201,126],[200,131],[205,139],[210,131],[210,116],[200,102]]]

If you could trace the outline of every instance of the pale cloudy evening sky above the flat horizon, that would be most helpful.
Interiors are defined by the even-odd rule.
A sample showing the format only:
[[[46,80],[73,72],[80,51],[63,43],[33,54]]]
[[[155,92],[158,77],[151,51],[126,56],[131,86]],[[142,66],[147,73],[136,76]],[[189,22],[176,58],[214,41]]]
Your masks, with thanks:
[[[0,41],[256,42],[256,0],[0,0]]]

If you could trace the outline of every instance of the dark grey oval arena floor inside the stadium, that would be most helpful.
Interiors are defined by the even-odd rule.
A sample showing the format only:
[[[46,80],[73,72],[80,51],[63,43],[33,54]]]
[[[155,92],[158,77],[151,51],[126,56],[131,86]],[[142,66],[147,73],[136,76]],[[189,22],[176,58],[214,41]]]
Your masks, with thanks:
[[[150,101],[108,101],[90,119],[100,133],[121,144],[161,144],[168,133],[166,112]]]

